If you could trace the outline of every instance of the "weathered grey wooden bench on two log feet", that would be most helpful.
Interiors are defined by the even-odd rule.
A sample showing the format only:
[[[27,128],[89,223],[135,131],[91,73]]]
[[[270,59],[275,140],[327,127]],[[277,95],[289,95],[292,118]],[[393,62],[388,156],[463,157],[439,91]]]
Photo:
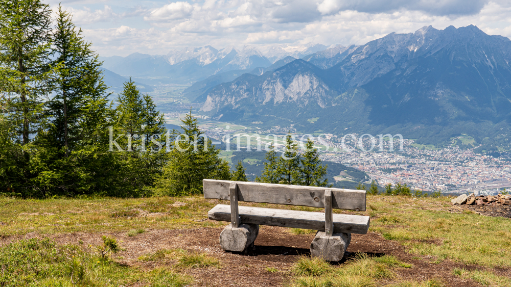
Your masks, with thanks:
[[[230,200],[207,213],[211,220],[230,222],[220,233],[226,251],[247,252],[259,233],[259,225],[317,230],[311,255],[339,261],[351,241],[351,234],[366,234],[369,217],[334,214],[333,208],[365,211],[364,190],[262,184],[204,179],[204,198]],[[239,201],[301,205],[324,208],[324,213],[239,206]]]

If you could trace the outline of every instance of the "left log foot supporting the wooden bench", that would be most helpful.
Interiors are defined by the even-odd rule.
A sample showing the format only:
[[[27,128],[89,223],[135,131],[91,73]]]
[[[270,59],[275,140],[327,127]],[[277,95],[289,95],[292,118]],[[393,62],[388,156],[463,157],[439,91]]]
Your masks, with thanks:
[[[225,251],[246,252],[253,247],[258,234],[258,224],[242,223],[239,227],[229,224],[220,233],[220,246]]]

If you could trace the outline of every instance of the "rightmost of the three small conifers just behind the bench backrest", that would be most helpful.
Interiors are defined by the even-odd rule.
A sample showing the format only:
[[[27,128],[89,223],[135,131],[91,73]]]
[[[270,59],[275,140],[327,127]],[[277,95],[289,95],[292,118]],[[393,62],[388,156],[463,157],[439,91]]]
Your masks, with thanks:
[[[300,185],[326,187],[328,186],[327,168],[328,166],[321,165],[319,159],[319,152],[314,148],[314,141],[307,139],[305,143],[305,152],[301,156]]]

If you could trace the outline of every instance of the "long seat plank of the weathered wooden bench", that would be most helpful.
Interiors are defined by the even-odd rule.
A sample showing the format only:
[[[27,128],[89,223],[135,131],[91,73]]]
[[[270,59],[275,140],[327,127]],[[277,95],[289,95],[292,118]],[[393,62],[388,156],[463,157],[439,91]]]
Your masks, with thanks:
[[[278,210],[275,208],[239,206],[242,223],[305,228],[324,231],[324,213]],[[218,204],[207,213],[211,220],[230,221],[230,206]],[[335,232],[366,234],[369,217],[349,214],[333,214]]]

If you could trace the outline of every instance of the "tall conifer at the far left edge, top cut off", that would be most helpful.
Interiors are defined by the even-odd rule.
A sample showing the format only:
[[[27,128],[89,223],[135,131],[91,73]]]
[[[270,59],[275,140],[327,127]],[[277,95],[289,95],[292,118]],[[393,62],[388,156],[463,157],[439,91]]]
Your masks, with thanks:
[[[9,94],[8,120],[21,145],[44,124],[49,93],[51,9],[39,0],[0,0],[0,89]]]

